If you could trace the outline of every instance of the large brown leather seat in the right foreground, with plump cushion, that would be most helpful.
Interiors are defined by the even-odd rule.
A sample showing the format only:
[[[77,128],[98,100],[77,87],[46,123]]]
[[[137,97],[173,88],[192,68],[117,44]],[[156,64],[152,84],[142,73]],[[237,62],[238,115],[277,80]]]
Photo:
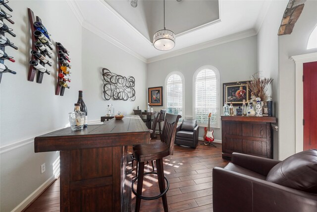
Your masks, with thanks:
[[[214,212],[317,212],[317,149],[277,161],[233,153],[212,170]]]

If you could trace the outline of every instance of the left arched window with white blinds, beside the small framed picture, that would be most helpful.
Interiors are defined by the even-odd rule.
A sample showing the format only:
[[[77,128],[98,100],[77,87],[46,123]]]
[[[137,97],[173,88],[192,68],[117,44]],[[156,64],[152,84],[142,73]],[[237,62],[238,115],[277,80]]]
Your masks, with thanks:
[[[184,76],[178,71],[173,71],[166,76],[166,110],[167,113],[184,113]]]

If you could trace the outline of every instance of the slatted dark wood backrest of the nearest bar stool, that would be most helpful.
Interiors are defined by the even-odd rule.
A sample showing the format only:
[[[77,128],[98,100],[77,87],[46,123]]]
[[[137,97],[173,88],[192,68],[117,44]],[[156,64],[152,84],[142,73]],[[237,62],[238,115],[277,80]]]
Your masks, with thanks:
[[[174,153],[174,140],[176,134],[176,127],[181,115],[173,115],[166,113],[163,125],[162,136],[160,140],[169,147],[169,154]]]

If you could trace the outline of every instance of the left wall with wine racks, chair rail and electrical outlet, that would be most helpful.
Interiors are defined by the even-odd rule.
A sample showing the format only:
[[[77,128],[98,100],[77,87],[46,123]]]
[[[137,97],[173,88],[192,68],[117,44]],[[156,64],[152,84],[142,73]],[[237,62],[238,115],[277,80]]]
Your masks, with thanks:
[[[32,192],[53,177],[53,161],[58,152],[34,153],[33,139],[36,136],[63,128],[68,124],[68,113],[77,102],[78,90],[82,89],[81,26],[66,1],[10,0],[13,8],[11,28],[17,37],[6,35],[19,50],[10,47],[5,52],[13,56],[15,63],[5,65],[17,74],[4,73],[0,84],[0,211],[9,212],[24,201]],[[56,52],[54,48],[51,75],[44,75],[43,82],[27,80],[31,51],[31,32],[27,8],[40,16],[53,44],[61,42],[71,58],[70,89],[64,96],[55,95]],[[4,7],[1,6],[4,10]],[[22,146],[19,147],[18,144]],[[40,166],[46,163],[46,172],[41,174]],[[27,203],[25,203],[27,204]],[[23,208],[23,207],[22,207]]]

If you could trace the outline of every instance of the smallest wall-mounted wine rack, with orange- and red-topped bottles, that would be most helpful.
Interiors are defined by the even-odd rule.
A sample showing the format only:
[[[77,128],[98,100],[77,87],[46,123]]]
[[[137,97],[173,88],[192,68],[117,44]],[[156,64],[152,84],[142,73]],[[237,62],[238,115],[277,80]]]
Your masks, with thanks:
[[[68,50],[59,42],[56,42],[56,52],[57,52],[57,60],[58,60],[58,75],[57,75],[57,83],[55,89],[55,95],[63,96],[65,92],[65,88],[69,88],[67,82],[70,82],[69,76],[70,72],[70,58]]]

